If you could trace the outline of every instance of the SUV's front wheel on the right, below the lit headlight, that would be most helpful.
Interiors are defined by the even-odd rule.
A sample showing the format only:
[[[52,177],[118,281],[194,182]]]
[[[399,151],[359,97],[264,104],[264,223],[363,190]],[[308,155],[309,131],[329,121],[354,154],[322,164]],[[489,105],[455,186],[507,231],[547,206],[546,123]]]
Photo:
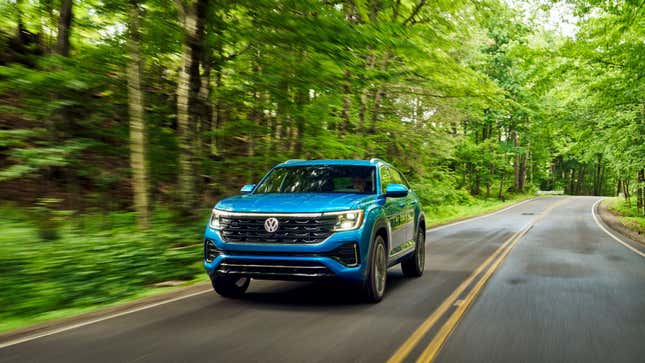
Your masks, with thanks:
[[[387,282],[387,247],[383,236],[377,235],[370,250],[367,278],[363,284],[363,296],[367,302],[377,303],[383,299]]]

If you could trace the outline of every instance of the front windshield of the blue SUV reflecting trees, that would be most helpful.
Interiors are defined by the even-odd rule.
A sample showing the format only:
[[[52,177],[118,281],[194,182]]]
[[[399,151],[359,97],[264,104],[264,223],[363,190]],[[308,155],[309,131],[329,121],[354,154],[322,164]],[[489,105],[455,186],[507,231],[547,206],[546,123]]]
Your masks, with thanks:
[[[309,165],[273,169],[255,193],[374,194],[373,166]]]

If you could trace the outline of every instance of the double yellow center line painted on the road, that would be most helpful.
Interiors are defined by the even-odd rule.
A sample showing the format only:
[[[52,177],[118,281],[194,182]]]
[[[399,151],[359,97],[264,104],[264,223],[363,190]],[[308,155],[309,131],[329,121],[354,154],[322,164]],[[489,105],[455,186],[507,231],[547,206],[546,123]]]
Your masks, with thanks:
[[[486,260],[479,265],[473,273],[468,276],[442,303],[437,309],[435,309],[430,316],[426,318],[421,325],[410,335],[410,337],[403,342],[399,349],[394,352],[394,354],[388,359],[388,363],[401,363],[405,358],[410,354],[410,352],[417,346],[419,341],[423,339],[425,334],[432,329],[432,327],[441,319],[441,317],[455,304],[457,299],[462,295],[462,293],[475,281],[479,276],[479,280],[475,283],[474,287],[468,292],[468,294],[463,298],[459,306],[453,311],[453,313],[448,317],[446,322],[439,328],[437,334],[432,338],[428,346],[423,350],[417,363],[429,363],[432,362],[441,347],[446,342],[450,334],[454,331],[457,324],[461,320],[461,317],[466,313],[468,307],[475,300],[479,292],[482,290],[488,279],[493,275],[495,270],[501,265],[502,261],[506,258],[508,253],[511,251],[515,243],[520,240],[524,235],[540,220],[542,220],[549,212],[551,212],[558,205],[566,202],[567,199],[560,200],[548,208],[546,208],[542,213],[530,221],[522,230],[513,234],[509,237],[501,246],[499,246],[495,252],[490,255]],[[492,263],[491,263],[492,262]],[[489,266],[490,265],[490,266]],[[486,269],[486,267],[488,268]],[[482,271],[486,270],[483,274]],[[480,276],[481,275],[481,276]]]

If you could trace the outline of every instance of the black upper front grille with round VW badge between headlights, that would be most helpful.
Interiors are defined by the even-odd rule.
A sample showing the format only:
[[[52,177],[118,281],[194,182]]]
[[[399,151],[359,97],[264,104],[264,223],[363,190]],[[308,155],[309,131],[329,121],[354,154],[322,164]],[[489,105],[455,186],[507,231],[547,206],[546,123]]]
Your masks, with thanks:
[[[278,229],[267,232],[269,217],[220,217],[221,234],[226,242],[238,243],[319,243],[327,239],[336,225],[336,216],[276,217]]]

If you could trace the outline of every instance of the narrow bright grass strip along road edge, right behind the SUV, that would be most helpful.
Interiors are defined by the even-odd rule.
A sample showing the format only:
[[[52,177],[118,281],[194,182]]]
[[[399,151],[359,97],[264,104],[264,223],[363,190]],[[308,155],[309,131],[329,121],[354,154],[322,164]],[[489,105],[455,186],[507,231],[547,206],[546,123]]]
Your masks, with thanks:
[[[533,194],[515,194],[501,201],[497,198],[472,198],[464,204],[441,205],[438,207],[425,206],[426,227],[432,228],[442,224],[468,219],[481,214],[491,213],[511,204],[533,198]]]

